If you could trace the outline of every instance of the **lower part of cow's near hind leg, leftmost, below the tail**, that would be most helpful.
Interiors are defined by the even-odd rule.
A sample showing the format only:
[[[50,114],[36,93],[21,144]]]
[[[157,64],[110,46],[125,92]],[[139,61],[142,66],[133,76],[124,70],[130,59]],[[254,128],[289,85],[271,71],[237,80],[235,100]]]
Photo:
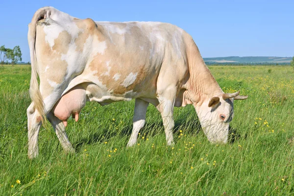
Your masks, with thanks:
[[[35,110],[33,103],[31,103],[27,110],[27,129],[28,129],[28,158],[32,159],[38,156],[39,148],[38,148],[38,138],[39,131],[42,125],[41,115],[37,110]]]

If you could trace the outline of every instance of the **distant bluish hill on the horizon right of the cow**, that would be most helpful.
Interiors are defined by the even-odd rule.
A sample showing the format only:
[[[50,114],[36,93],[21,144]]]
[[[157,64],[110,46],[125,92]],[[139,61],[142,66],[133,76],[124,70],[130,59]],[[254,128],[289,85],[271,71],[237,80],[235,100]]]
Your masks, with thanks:
[[[228,56],[203,58],[206,64],[290,64],[292,57],[276,56]]]

